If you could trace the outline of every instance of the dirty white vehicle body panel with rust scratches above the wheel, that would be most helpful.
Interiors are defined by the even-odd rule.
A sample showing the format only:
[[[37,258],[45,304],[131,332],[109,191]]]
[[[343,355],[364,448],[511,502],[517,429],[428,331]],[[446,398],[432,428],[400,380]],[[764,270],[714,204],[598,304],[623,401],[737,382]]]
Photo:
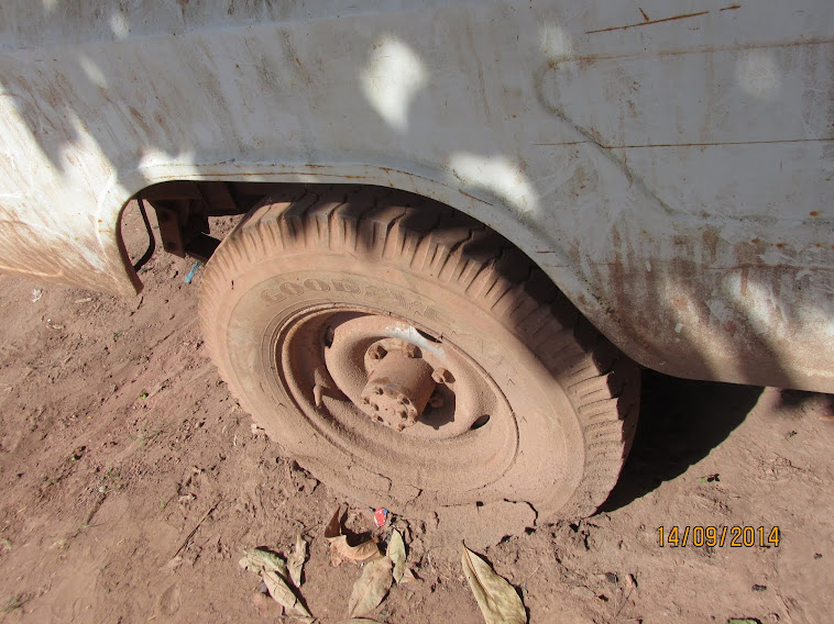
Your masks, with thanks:
[[[830,3],[0,9],[0,269],[131,293],[129,198],[364,182],[518,245],[625,353],[834,391]]]

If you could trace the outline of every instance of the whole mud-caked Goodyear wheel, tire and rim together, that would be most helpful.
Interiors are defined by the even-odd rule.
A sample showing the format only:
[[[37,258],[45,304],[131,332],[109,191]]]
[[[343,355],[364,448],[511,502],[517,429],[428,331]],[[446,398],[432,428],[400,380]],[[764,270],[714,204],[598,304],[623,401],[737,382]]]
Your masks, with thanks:
[[[505,238],[408,193],[265,202],[209,261],[200,319],[286,454],[406,515],[590,514],[634,431],[635,365]]]

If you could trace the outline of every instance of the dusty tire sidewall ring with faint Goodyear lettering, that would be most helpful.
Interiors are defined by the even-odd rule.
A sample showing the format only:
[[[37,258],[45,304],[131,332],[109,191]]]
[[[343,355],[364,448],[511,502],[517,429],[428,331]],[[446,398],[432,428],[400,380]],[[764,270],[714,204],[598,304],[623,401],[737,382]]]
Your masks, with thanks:
[[[345,454],[310,425],[279,382],[276,332],[319,305],[356,305],[411,321],[453,342],[501,388],[514,410],[517,454],[500,480],[461,504],[512,500],[539,512],[558,510],[580,484],[583,434],[568,393],[508,319],[451,283],[378,259],[284,250],[239,270],[223,300],[213,303],[212,352],[243,406],[314,475],[359,501],[403,509],[421,488],[393,483],[384,463]],[[417,508],[438,504],[437,493],[423,494]]]

